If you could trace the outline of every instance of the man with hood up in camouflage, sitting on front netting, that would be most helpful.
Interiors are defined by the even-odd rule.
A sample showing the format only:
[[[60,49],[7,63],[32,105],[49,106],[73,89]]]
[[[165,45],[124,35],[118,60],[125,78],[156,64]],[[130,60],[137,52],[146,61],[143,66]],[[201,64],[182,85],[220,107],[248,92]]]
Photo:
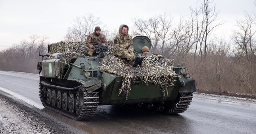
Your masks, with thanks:
[[[132,67],[137,67],[141,64],[143,57],[135,56],[133,53],[133,42],[132,36],[128,34],[128,26],[120,25],[119,34],[114,38],[114,54],[120,58],[128,59],[129,61],[134,61]]]

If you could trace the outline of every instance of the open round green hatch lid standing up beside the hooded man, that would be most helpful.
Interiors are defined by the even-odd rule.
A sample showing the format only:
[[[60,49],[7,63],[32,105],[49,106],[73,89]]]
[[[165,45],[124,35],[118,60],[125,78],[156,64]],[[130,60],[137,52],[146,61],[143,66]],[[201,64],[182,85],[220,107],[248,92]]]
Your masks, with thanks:
[[[148,37],[146,36],[136,36],[132,39],[133,42],[133,52],[135,54],[141,54],[141,50],[143,46],[147,46],[149,50],[151,49],[151,41]]]

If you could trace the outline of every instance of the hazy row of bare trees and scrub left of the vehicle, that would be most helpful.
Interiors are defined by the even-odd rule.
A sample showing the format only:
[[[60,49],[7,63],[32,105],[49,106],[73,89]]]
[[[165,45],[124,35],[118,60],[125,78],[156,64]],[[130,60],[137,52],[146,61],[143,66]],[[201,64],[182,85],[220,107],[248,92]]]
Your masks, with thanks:
[[[0,61],[3,66],[0,66],[0,70],[37,72],[38,46],[41,46],[41,49],[46,51],[46,39],[47,37],[40,38],[37,35],[32,35],[29,41],[22,40],[18,45],[1,51]]]

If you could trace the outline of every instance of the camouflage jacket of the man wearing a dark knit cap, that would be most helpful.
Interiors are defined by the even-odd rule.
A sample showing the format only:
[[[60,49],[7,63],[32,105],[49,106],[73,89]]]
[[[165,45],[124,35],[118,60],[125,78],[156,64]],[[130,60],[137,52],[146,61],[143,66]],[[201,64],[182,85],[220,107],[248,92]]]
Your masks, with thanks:
[[[104,34],[100,34],[99,36],[97,36],[93,32],[92,34],[88,35],[85,45],[89,47],[90,45],[98,45],[98,43],[102,43],[102,45],[106,46],[106,37]]]

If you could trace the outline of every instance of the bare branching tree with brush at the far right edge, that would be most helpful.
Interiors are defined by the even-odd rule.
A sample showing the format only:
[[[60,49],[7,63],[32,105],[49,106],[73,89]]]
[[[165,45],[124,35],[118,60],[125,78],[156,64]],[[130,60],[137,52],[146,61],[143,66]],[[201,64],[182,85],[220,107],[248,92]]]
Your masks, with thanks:
[[[255,66],[256,66],[256,15],[245,13],[242,20],[237,21],[238,30],[231,36],[235,44],[233,53],[236,66],[243,84],[247,86],[250,93],[255,93]],[[245,88],[246,89],[246,88]]]

